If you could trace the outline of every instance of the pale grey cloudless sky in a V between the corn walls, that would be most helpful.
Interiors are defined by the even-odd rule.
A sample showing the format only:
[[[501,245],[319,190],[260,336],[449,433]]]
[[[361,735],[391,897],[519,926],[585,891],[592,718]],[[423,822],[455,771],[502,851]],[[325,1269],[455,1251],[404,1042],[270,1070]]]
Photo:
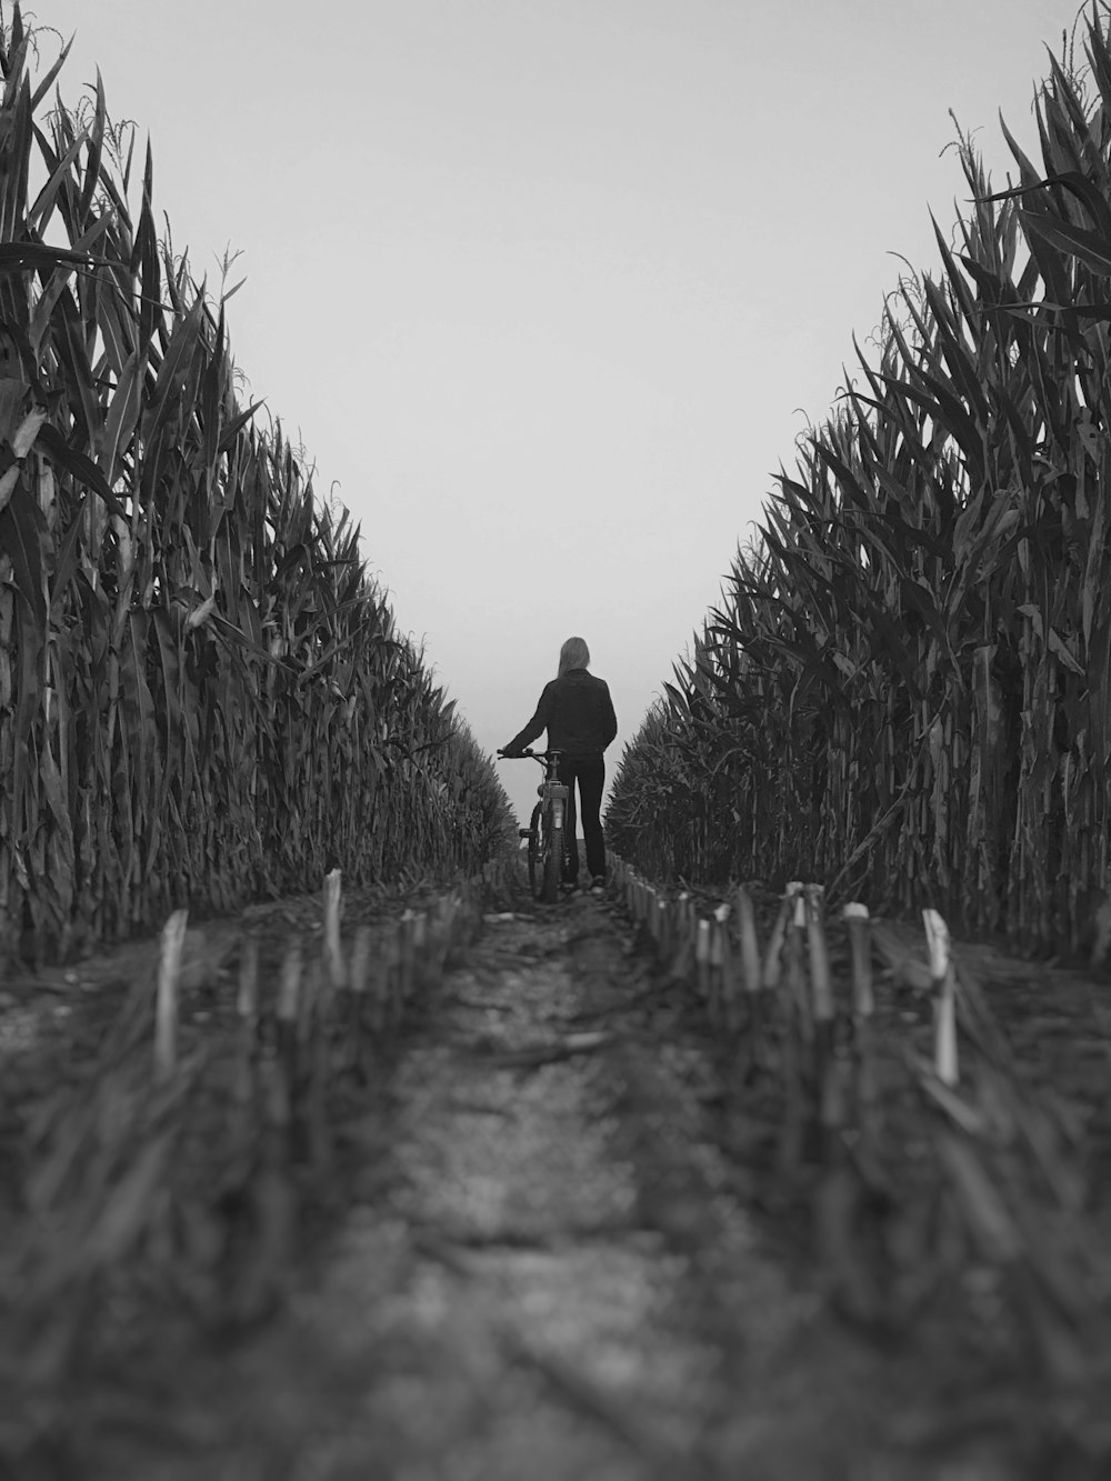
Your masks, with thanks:
[[[1077,3],[31,0],[478,743],[581,635],[624,746]],[[4,15],[10,3],[4,0]],[[41,37],[43,62],[56,41]],[[499,763],[521,820],[536,778]]]

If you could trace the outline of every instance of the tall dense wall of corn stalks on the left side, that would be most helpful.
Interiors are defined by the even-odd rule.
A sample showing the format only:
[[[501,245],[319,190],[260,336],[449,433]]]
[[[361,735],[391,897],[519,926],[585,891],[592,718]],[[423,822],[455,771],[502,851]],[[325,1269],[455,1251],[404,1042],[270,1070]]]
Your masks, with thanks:
[[[476,871],[513,819],[348,512],[241,406],[151,151],[0,70],[0,958]],[[132,198],[138,195],[138,212]]]

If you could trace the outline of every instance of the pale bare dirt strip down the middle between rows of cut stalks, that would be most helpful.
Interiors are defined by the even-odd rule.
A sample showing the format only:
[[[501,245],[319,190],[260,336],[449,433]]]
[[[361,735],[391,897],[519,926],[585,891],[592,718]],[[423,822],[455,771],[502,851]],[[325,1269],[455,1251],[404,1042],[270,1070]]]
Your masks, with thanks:
[[[699,1142],[707,1066],[637,1026],[649,991],[597,906],[495,918],[406,1054],[394,1208],[415,1268],[391,1334],[422,1380],[412,1407],[406,1380],[388,1383],[375,1414],[398,1457],[484,1437],[476,1474],[708,1463],[721,1275],[747,1271],[751,1315],[755,1277],[761,1303],[788,1297]],[[341,1308],[367,1253],[356,1238],[333,1277]]]

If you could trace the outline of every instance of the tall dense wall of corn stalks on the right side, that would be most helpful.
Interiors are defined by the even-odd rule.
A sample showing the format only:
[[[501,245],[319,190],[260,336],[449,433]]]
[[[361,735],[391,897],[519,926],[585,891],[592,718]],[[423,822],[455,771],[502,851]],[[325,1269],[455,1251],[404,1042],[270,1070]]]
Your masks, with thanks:
[[[607,828],[656,878],[816,877],[1077,951],[1108,889],[1111,46],[1093,10],[941,267],[781,471],[627,748]],[[936,230],[936,224],[935,224]],[[647,825],[649,819],[652,823]]]

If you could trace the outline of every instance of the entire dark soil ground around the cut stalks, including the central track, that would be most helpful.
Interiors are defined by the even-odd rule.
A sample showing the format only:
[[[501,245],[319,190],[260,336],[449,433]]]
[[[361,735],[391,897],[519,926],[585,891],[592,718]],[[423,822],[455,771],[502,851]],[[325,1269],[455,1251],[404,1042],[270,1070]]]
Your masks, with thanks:
[[[345,930],[360,909],[387,906]],[[83,1225],[47,1192],[154,945],[3,985],[0,1478],[1111,1477],[1104,982],[967,946],[995,1037],[945,1106],[914,1057],[930,1003],[881,976],[878,1130],[831,1140],[770,1029],[711,1017],[612,895],[516,890],[329,1062],[323,1142],[278,1177],[228,1089],[259,921],[194,942],[181,1084],[204,1089],[130,1223],[123,1195]],[[262,920],[264,973],[295,929],[316,902]],[[119,1084],[95,1114],[132,1115],[153,1167],[187,1091]]]

